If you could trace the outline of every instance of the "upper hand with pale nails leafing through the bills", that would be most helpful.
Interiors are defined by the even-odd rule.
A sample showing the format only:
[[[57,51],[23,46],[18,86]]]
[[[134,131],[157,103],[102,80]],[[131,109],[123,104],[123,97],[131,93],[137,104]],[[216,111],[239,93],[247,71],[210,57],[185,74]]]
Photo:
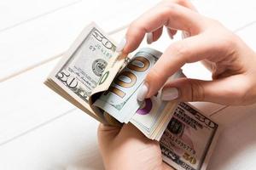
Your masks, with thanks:
[[[138,99],[156,94],[168,77],[184,64],[202,60],[212,70],[212,81],[178,79],[165,84],[162,99],[253,104],[256,101],[255,52],[218,21],[191,8],[194,7],[185,0],[163,1],[129,26],[125,43],[123,41],[119,46],[125,54],[135,50],[146,33],[149,34],[148,42],[157,41],[164,26],[171,35],[173,30],[189,33],[189,37],[166,48],[149,71]]]

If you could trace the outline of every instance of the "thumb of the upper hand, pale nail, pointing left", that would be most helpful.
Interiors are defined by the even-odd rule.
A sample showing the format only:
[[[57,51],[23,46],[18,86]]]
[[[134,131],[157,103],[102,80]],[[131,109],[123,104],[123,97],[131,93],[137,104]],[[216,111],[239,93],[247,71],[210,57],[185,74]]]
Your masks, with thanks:
[[[163,100],[208,101],[222,105],[245,104],[247,79],[241,75],[214,81],[181,78],[165,85]]]

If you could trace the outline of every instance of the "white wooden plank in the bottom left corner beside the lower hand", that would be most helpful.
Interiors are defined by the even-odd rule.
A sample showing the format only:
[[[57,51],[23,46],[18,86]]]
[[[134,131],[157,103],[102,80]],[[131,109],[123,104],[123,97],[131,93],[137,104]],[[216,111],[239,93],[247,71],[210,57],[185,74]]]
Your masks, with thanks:
[[[82,111],[67,112],[2,145],[0,169],[103,169],[97,125]]]

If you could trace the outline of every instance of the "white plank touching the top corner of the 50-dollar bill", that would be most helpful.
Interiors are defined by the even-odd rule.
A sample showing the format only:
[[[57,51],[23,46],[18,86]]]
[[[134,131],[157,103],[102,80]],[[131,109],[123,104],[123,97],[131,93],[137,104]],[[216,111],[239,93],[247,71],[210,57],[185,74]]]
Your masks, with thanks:
[[[91,1],[90,5],[82,1],[0,32],[0,82],[63,53],[91,21],[101,24],[105,31],[113,31],[154,3],[153,0],[133,2],[137,4],[135,7],[132,1]],[[125,11],[125,8],[133,10]]]

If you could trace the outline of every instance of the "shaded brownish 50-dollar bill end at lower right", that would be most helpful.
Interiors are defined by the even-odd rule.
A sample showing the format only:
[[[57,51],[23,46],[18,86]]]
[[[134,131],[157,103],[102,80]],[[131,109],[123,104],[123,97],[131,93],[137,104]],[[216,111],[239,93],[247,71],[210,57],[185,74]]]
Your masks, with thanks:
[[[180,103],[160,139],[163,160],[177,170],[206,169],[217,135],[217,123]]]

